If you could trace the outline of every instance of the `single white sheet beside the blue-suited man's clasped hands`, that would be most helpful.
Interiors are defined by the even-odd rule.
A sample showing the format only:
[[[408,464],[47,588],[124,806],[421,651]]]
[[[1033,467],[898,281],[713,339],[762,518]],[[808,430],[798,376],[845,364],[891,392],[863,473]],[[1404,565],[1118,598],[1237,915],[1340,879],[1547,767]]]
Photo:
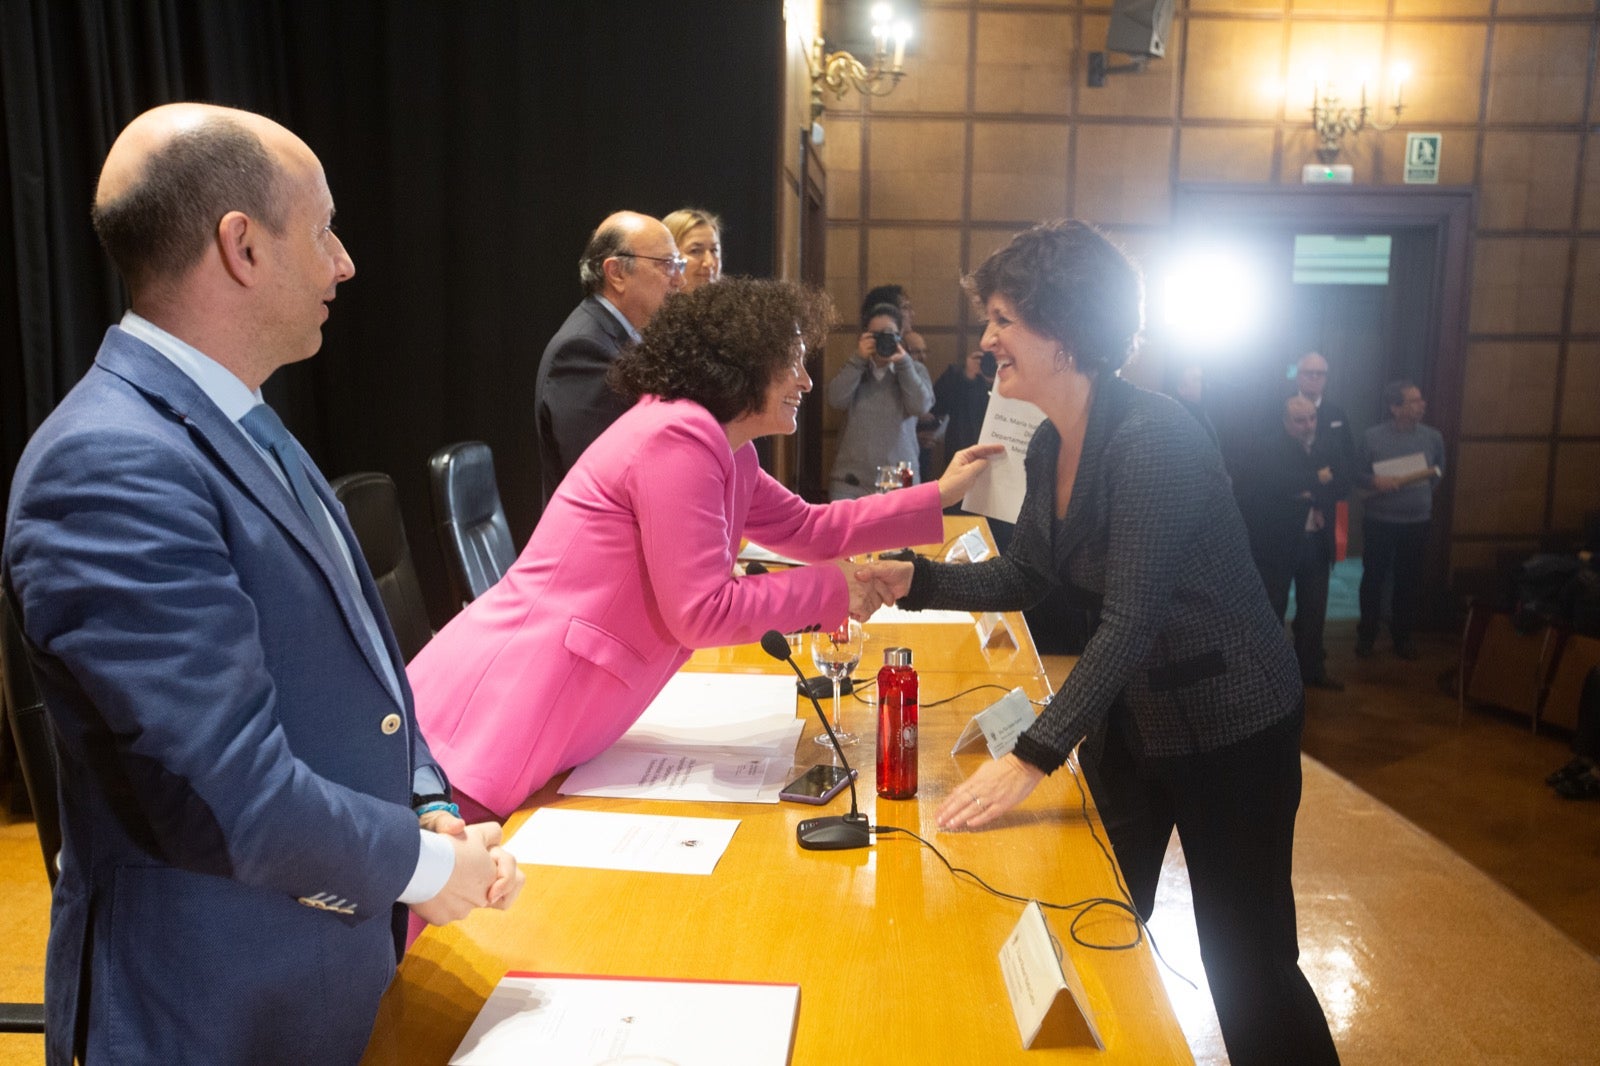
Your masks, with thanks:
[[[506,850],[526,866],[586,866],[646,874],[709,874],[738,818],[667,818],[541,807]]]

